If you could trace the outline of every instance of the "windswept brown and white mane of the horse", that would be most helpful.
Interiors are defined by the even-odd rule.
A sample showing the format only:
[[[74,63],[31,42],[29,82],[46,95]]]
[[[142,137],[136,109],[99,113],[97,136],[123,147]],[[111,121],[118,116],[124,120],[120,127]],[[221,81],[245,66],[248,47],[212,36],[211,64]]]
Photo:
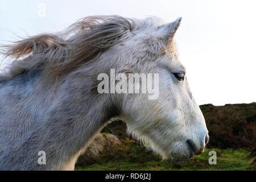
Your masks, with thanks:
[[[1,46],[0,53],[14,61],[0,81],[10,80],[30,69],[61,75],[96,59],[109,47],[129,37],[131,19],[122,16],[88,16],[56,34],[39,34]]]

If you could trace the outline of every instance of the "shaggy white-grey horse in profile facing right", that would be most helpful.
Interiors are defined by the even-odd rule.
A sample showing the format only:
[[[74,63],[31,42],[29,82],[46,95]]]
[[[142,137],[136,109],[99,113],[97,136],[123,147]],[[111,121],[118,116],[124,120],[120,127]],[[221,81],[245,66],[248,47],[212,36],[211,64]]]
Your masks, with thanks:
[[[63,31],[2,45],[13,61],[0,75],[0,169],[73,170],[114,119],[163,160],[204,152],[207,126],[174,40],[180,22],[87,16]],[[158,74],[159,97],[98,93],[97,77],[110,69]]]

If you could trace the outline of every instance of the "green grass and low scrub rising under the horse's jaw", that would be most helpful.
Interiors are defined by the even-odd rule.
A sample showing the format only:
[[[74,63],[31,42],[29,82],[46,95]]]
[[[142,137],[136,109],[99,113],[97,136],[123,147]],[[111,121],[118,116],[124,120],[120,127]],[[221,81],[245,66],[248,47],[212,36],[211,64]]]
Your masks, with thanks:
[[[103,152],[99,160],[93,164],[77,166],[76,170],[255,170],[252,160],[245,160],[249,149],[207,149],[203,154],[180,163],[161,160],[153,153],[146,154],[142,148],[131,140],[123,140],[121,146],[115,148],[112,154]],[[217,164],[209,164],[209,151],[216,151]],[[113,150],[114,151],[114,150]],[[122,154],[122,155],[121,155]]]

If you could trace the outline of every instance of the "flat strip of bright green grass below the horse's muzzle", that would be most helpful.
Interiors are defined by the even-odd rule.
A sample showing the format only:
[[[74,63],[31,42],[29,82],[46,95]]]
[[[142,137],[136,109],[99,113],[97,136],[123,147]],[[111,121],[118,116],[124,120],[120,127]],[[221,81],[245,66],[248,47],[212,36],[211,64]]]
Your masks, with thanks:
[[[210,165],[209,151],[217,152],[217,164]],[[170,163],[161,160],[148,160],[145,162],[133,162],[132,160],[114,159],[97,162],[91,165],[76,167],[76,170],[255,170],[255,165],[250,165],[251,160],[245,160],[249,150],[240,148],[237,150],[221,150],[211,148],[199,156],[183,163]],[[146,154],[147,155],[147,154]]]

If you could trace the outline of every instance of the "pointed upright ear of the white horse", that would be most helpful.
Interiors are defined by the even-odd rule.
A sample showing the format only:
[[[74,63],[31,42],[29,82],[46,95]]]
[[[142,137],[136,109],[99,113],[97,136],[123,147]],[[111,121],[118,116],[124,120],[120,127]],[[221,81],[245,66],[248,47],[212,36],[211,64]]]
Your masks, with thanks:
[[[163,41],[165,45],[170,43],[174,38],[177,28],[180,26],[181,17],[176,19],[174,22],[165,24],[162,27],[158,28],[159,39]]]

